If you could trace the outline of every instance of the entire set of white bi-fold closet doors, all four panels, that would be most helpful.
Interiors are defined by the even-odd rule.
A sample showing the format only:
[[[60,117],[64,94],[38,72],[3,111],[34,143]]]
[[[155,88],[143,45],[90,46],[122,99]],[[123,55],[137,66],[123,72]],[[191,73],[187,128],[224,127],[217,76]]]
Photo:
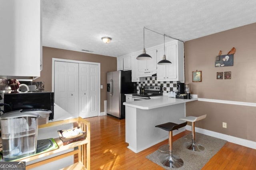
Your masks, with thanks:
[[[55,103],[74,117],[98,116],[98,65],[54,61]]]

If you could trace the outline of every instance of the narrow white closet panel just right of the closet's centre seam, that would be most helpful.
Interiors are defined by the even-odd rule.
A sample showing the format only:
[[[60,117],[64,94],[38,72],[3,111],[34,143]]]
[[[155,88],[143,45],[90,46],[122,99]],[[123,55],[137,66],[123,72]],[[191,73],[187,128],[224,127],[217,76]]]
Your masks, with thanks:
[[[79,64],[79,116],[89,117],[89,64]]]

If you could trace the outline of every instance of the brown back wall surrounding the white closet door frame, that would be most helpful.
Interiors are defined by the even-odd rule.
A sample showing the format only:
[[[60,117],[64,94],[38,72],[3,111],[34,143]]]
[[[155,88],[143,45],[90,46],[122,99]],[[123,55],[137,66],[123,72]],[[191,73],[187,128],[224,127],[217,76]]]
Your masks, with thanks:
[[[103,112],[104,100],[106,100],[106,76],[107,72],[116,71],[116,57],[43,47],[43,70],[40,78],[35,81],[44,81],[44,88],[47,91],[52,91],[52,58],[100,63],[100,84],[103,85],[103,89],[100,89],[100,111]]]

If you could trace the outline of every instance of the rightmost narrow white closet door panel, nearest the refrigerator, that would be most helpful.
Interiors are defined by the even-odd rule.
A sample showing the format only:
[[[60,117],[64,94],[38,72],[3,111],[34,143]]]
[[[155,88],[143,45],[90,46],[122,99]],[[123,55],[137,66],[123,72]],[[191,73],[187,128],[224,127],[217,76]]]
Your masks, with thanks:
[[[99,66],[90,64],[90,86],[89,99],[90,111],[89,117],[98,116],[98,95],[99,95]]]

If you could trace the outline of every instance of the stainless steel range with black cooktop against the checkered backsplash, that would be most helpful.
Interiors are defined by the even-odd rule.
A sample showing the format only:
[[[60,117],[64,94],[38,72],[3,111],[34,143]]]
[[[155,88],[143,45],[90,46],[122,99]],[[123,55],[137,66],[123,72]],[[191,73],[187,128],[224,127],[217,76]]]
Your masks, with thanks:
[[[162,86],[144,86],[144,93],[142,94],[132,94],[132,100],[145,100],[150,99],[152,96],[162,96],[163,89]]]

